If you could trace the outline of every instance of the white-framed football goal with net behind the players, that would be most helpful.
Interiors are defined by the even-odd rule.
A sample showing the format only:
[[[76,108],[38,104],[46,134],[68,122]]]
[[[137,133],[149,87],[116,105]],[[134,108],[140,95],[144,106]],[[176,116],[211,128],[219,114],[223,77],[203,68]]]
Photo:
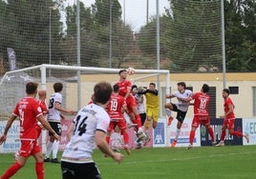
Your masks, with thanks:
[[[93,89],[97,82],[107,81],[112,85],[117,83],[119,79],[117,74],[118,70],[119,69],[40,65],[22,70],[9,71],[2,77],[0,83],[1,120],[7,120],[17,101],[26,95],[25,85],[29,81],[39,83],[38,89],[47,90],[47,103],[50,95],[53,93],[53,84],[61,82],[64,87],[61,92],[63,97],[61,106],[77,111],[91,100],[91,95],[93,94]],[[128,75],[128,79],[138,87],[148,87],[150,82],[157,84],[160,90],[160,116],[164,115],[162,105],[164,104],[163,100],[165,100],[165,94],[169,91],[169,77],[168,70],[135,70],[135,74]],[[64,120],[62,124],[64,132],[68,129],[70,121],[74,117],[75,116],[66,115],[67,120]],[[64,134],[61,139],[60,149],[63,149],[67,142],[65,136]],[[46,143],[45,137],[46,135],[42,140],[43,147]]]

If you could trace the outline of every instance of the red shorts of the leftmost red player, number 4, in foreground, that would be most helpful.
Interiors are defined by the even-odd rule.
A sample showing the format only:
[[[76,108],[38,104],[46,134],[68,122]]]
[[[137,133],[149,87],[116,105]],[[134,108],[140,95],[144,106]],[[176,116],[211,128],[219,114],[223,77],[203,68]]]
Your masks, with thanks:
[[[19,149],[19,155],[29,157],[35,153],[41,152],[37,140],[20,140],[21,146]]]

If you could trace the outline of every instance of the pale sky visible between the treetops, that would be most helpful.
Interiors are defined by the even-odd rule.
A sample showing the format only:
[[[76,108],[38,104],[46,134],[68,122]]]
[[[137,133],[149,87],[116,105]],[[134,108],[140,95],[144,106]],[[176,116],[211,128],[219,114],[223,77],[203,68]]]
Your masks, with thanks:
[[[95,3],[95,0],[80,0],[84,3],[86,7],[91,7],[92,4]],[[141,26],[146,24],[146,4],[147,0],[118,0],[122,11],[125,11],[125,19],[124,13],[122,13],[122,18],[125,20],[126,24],[131,25],[132,29],[135,31],[139,31]],[[156,3],[157,0],[148,0],[148,11],[149,18],[153,15],[156,15]],[[69,0],[69,4],[74,4],[76,0]],[[159,0],[160,3],[160,14],[164,12],[164,8],[170,8],[170,4],[168,0]],[[124,6],[125,5],[125,6]],[[125,7],[125,9],[124,9]]]

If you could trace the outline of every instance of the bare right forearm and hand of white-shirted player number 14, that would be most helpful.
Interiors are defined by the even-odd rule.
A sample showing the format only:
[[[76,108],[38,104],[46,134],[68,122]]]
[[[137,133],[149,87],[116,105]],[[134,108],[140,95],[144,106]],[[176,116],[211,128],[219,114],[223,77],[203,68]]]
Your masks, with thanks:
[[[106,133],[101,130],[96,130],[96,147],[103,153],[111,156],[118,163],[120,163],[123,159],[123,155],[121,153],[114,152],[109,148],[109,145],[106,142]]]

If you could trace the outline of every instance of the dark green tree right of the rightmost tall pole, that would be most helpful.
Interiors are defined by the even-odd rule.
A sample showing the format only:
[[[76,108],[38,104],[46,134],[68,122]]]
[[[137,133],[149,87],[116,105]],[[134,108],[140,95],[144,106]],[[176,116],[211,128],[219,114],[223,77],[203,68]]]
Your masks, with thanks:
[[[230,0],[224,3],[226,69],[255,71],[256,2]]]

